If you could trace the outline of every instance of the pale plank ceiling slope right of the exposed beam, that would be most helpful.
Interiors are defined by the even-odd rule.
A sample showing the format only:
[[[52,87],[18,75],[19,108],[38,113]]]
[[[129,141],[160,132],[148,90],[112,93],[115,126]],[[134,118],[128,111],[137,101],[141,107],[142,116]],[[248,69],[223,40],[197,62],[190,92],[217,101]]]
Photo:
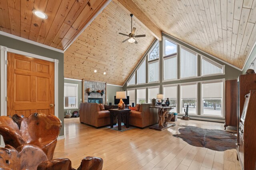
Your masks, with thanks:
[[[256,41],[256,0],[133,0],[162,30],[240,69]]]

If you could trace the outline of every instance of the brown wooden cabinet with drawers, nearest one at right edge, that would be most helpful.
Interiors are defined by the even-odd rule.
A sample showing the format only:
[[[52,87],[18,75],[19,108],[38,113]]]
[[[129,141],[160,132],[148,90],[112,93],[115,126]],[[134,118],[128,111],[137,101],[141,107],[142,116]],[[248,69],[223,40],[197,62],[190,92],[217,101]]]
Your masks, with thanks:
[[[238,127],[237,156],[242,170],[256,169],[256,90],[244,97]]]

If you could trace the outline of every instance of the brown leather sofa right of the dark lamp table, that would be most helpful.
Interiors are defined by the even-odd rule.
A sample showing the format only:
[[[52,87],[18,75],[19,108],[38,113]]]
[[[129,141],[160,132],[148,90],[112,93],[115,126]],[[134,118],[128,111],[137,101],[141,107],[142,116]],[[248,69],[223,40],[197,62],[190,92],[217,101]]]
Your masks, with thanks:
[[[151,103],[140,105],[139,111],[130,111],[130,125],[144,128],[158,123],[158,109],[149,108]]]

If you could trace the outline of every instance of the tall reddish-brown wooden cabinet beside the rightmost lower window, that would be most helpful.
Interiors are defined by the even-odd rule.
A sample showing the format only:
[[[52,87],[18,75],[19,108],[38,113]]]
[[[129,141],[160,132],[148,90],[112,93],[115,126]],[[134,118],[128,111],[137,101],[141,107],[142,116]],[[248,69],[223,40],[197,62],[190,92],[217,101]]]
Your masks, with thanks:
[[[237,126],[237,79],[225,82],[225,130]]]

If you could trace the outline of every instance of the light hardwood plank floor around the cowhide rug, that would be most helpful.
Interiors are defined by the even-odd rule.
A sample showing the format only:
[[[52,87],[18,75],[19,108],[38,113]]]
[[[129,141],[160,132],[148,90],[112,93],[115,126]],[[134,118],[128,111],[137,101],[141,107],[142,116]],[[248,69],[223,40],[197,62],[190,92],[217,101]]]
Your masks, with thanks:
[[[77,168],[85,156],[103,158],[104,170],[240,170],[236,150],[218,152],[187,144],[177,134],[179,125],[224,129],[223,123],[184,121],[163,131],[134,128],[119,132],[65,119],[65,139],[58,140],[54,158],[69,158]]]

